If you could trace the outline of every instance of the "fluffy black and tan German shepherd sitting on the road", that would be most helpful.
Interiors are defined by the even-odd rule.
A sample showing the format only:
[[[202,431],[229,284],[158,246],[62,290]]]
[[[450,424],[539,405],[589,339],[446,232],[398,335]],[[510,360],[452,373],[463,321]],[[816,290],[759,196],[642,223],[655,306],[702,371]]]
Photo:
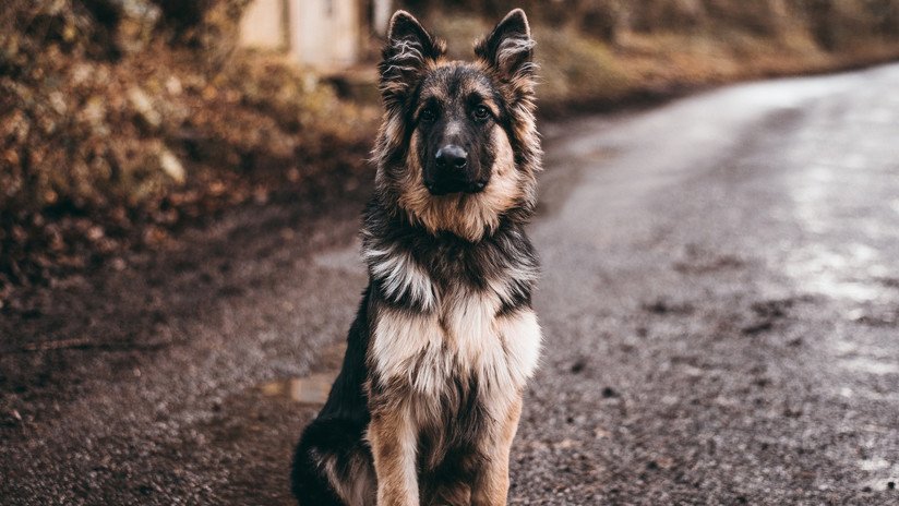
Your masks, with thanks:
[[[474,62],[445,59],[409,13],[391,20],[361,232],[369,286],[297,446],[301,505],[506,504],[541,340],[525,234],[542,156],[534,46],[522,10]]]

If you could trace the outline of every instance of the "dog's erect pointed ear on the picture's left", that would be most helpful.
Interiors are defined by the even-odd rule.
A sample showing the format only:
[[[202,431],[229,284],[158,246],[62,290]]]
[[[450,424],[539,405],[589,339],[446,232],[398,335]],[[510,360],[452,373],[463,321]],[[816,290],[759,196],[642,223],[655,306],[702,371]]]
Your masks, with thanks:
[[[424,71],[446,52],[446,45],[431,35],[406,11],[396,11],[382,51],[381,94],[387,106],[401,104]]]

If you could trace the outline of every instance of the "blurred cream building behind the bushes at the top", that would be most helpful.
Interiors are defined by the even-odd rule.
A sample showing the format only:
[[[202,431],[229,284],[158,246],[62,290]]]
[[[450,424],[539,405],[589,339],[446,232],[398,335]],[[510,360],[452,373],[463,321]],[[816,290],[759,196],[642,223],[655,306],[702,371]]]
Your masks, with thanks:
[[[253,0],[240,24],[247,47],[281,49],[320,71],[356,63],[371,34],[386,31],[391,0]]]

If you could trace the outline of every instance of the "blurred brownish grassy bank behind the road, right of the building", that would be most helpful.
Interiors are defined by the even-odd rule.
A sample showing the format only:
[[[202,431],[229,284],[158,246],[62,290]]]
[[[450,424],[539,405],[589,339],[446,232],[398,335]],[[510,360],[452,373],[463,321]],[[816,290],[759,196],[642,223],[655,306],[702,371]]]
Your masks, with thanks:
[[[899,58],[897,0],[406,0],[455,56],[515,7],[538,41],[543,113]],[[455,43],[455,44],[454,44]]]

